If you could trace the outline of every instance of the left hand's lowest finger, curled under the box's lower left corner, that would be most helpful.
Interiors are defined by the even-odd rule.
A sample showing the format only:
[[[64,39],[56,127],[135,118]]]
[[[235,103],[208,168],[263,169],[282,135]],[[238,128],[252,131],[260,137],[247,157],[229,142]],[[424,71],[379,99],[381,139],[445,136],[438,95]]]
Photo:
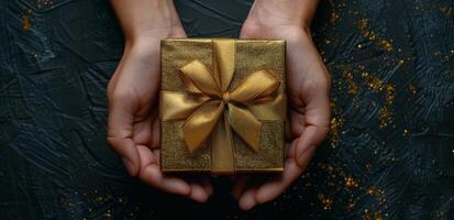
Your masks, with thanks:
[[[189,184],[180,178],[164,175],[158,165],[158,158],[148,147],[144,145],[137,146],[141,167],[139,176],[143,182],[159,190],[188,196],[191,193]]]

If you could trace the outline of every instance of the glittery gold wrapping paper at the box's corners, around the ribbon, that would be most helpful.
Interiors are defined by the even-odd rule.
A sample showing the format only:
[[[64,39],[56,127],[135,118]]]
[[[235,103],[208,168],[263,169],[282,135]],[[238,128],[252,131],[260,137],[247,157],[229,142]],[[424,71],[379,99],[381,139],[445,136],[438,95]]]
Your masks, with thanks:
[[[235,88],[250,74],[268,69],[280,80],[278,94],[286,91],[285,41],[236,40],[235,73],[229,88]],[[160,44],[160,91],[186,92],[179,68],[193,59],[201,61],[212,69],[212,41],[210,38],[168,38]],[[281,108],[286,108],[283,105]],[[232,132],[235,170],[281,172],[285,155],[285,122],[261,121],[259,150],[252,151],[241,138]],[[160,168],[163,172],[210,172],[211,146],[206,140],[190,153],[184,141],[181,125],[185,120],[160,121]],[[210,136],[208,138],[210,139]]]

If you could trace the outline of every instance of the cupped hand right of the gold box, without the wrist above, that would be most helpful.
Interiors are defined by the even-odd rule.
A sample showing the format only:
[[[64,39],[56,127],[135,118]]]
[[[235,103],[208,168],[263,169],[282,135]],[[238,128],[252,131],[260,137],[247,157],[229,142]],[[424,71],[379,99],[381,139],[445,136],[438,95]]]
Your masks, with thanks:
[[[279,196],[308,166],[315,146],[328,133],[330,82],[310,34],[302,29],[294,25],[264,29],[256,23],[246,23],[241,37],[287,40],[288,114],[291,135],[288,136],[286,168],[283,175],[251,188],[245,188],[250,176],[242,176],[236,180],[233,193],[240,197],[240,206],[250,209],[256,204]]]

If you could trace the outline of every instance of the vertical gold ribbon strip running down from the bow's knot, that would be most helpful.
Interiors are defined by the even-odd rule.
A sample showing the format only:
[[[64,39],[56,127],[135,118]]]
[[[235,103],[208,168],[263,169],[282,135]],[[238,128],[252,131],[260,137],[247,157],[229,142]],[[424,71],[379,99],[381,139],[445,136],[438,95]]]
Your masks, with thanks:
[[[224,111],[211,133],[211,173],[232,175],[235,173],[233,138]]]

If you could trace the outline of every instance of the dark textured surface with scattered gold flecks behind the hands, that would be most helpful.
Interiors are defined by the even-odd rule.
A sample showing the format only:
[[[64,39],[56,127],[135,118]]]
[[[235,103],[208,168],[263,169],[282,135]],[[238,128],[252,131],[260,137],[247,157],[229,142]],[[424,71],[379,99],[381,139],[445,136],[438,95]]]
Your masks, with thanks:
[[[236,36],[251,1],[176,1],[190,36]],[[108,0],[0,1],[0,219],[454,219],[454,1],[328,0],[331,135],[274,202],[206,205],[130,178],[106,143],[122,55]],[[285,218],[287,219],[287,218]]]

